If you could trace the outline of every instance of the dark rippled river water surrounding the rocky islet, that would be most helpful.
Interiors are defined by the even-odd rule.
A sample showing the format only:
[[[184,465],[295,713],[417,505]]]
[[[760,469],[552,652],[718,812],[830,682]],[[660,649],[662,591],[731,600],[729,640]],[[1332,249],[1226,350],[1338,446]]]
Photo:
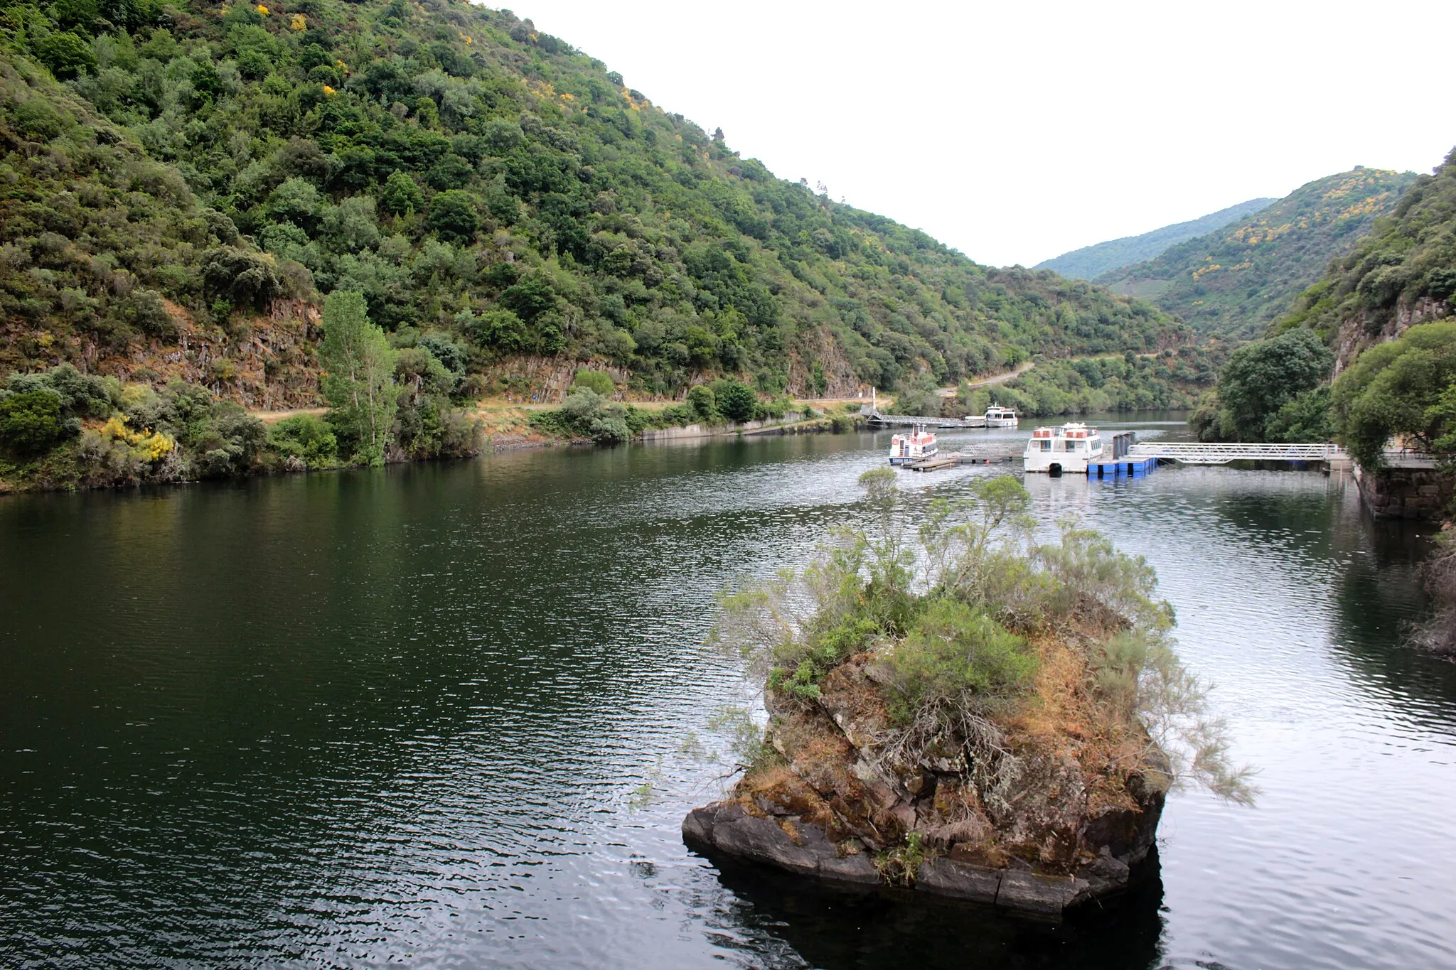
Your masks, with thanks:
[[[0,500],[0,964],[1452,966],[1456,666],[1402,646],[1427,540],[1312,471],[1026,483],[1156,566],[1261,772],[1254,809],[1176,793],[1121,906],[1045,926],[684,849],[745,697],[713,596],[866,522],[887,444]]]

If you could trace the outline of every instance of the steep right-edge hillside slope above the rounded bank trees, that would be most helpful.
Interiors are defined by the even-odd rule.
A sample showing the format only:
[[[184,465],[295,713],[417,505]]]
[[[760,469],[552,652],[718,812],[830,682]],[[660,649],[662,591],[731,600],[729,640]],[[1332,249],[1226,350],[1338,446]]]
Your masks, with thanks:
[[[1456,148],[1423,175],[1389,218],[1294,300],[1278,330],[1312,327],[1335,346],[1335,371],[1364,348],[1450,314],[1456,294]]]

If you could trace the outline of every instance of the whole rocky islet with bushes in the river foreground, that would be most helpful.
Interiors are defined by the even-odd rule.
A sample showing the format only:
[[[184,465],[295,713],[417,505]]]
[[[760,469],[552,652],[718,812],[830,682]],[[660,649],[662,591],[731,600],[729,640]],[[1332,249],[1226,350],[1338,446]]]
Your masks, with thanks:
[[[1251,797],[1142,558],[1075,522],[1037,545],[1009,476],[932,503],[916,550],[894,473],[863,481],[881,538],[724,599],[769,723],[690,846],[1057,918],[1136,880],[1171,784]]]

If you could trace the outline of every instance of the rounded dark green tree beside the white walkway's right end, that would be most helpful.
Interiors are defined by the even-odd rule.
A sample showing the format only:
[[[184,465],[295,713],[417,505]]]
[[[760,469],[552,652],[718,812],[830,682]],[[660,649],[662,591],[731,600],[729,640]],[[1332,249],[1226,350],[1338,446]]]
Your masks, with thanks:
[[[1265,441],[1270,419],[1326,380],[1334,359],[1309,330],[1239,348],[1219,374],[1220,432],[1235,441]]]

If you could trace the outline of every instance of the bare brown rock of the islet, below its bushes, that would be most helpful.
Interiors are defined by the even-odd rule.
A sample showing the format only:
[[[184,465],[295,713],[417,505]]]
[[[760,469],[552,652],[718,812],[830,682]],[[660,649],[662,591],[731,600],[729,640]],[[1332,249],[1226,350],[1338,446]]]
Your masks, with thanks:
[[[1034,701],[910,758],[874,654],[831,670],[815,700],[770,694],[778,758],[692,811],[683,836],[791,873],[1042,916],[1114,894],[1153,845],[1163,791],[1143,768],[1146,733],[1117,736],[1072,656],[1044,647]]]

